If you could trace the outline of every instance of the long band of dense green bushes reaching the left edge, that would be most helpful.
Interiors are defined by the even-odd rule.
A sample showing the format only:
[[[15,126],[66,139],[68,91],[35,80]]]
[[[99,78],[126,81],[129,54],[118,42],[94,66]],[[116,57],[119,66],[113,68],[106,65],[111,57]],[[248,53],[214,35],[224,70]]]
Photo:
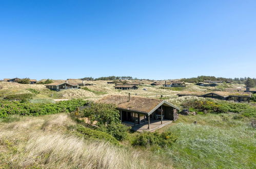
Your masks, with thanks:
[[[46,115],[56,114],[61,112],[72,112],[79,106],[87,104],[87,101],[82,99],[72,99],[60,101],[57,103],[31,103],[22,101],[0,100],[0,118],[9,115]]]

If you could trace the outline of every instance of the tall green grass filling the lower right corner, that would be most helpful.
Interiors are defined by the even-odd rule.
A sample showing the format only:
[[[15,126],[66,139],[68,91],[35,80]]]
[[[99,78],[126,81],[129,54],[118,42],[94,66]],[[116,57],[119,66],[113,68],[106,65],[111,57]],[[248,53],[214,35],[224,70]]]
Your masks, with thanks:
[[[163,151],[164,156],[177,168],[255,168],[256,130],[250,120],[234,116],[181,117],[180,123],[167,129],[178,140]]]

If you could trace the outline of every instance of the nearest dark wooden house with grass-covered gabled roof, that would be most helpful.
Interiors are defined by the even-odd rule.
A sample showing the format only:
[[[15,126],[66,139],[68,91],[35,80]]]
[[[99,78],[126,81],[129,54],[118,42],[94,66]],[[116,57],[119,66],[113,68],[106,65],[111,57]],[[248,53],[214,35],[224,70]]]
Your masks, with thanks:
[[[119,110],[120,119],[126,124],[140,125],[146,123],[150,129],[150,121],[173,121],[178,119],[180,108],[160,99],[138,96],[108,95],[97,102],[115,104]]]

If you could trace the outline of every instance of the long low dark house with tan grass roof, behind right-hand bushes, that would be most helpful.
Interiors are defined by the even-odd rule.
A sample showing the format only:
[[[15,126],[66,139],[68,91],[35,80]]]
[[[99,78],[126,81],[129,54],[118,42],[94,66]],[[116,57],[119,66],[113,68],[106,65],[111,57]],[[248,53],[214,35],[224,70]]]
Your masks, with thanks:
[[[250,102],[251,93],[249,92],[210,92],[210,93],[202,93],[202,92],[185,92],[180,93],[178,96],[198,96],[198,97],[209,97],[220,100],[229,100],[235,102]]]

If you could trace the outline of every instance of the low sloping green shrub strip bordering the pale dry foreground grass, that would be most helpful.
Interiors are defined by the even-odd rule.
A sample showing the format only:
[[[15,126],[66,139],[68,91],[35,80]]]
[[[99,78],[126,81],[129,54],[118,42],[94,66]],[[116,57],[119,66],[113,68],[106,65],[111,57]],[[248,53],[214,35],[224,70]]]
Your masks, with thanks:
[[[73,131],[74,134],[77,136],[84,137],[85,139],[95,139],[95,140],[105,140],[112,144],[119,144],[119,141],[117,141],[113,136],[111,136],[108,133],[92,130],[89,128],[86,128],[83,125],[73,125],[69,127],[69,130]]]

